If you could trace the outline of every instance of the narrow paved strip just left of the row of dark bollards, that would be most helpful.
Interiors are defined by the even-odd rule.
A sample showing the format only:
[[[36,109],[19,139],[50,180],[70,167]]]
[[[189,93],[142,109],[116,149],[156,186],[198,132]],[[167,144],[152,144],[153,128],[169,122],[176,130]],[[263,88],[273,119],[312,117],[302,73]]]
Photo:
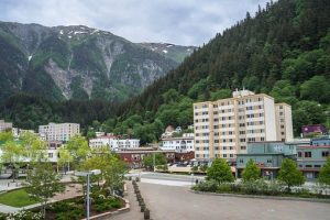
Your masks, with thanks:
[[[136,196],[134,194],[132,182],[127,182],[127,184],[128,184],[128,196],[125,196],[124,198],[130,201],[130,211],[110,217],[109,219],[143,220],[143,212],[140,211],[139,202],[136,201]]]

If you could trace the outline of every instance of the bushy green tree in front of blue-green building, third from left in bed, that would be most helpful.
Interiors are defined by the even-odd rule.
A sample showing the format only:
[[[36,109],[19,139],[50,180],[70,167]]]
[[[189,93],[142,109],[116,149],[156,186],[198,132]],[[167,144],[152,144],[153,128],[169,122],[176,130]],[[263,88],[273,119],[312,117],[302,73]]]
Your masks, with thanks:
[[[302,173],[298,170],[296,163],[289,158],[283,160],[277,179],[286,184],[288,191],[290,191],[290,187],[300,186],[305,183]]]

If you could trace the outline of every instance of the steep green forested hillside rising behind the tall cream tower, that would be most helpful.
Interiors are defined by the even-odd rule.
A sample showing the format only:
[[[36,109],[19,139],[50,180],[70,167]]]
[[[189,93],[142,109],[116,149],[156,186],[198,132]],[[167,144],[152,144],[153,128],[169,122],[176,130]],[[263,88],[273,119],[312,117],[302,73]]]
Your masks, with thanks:
[[[76,110],[87,119],[76,120],[95,130],[128,133],[147,143],[157,140],[167,124],[191,124],[193,102],[227,98],[235,88],[245,87],[292,105],[296,135],[302,124],[323,123],[329,129],[329,28],[328,0],[270,2],[264,9],[258,7],[254,15],[248,12],[244,20],[217,34],[139,96],[120,106],[112,103],[103,113],[97,110],[95,116],[97,108],[89,103],[86,114]],[[66,118],[68,114],[59,110],[63,108],[52,105],[50,118],[75,119]],[[66,113],[79,109],[76,105],[64,108]],[[102,105],[107,108],[109,103]],[[15,122],[18,116],[8,106],[3,116]]]

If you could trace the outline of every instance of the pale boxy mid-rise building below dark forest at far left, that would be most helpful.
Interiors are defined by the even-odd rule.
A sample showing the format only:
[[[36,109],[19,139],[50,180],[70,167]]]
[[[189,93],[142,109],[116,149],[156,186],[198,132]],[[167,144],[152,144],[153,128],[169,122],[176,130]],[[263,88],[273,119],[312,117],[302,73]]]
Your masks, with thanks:
[[[50,123],[38,127],[38,134],[44,141],[67,142],[70,138],[80,133],[78,123]]]

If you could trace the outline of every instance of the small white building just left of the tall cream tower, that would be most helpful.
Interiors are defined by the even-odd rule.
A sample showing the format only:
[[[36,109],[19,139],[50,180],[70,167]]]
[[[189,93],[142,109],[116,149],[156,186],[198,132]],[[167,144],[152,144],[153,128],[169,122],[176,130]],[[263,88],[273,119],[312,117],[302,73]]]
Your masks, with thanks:
[[[194,133],[184,133],[179,138],[163,138],[161,148],[177,153],[194,152]]]

